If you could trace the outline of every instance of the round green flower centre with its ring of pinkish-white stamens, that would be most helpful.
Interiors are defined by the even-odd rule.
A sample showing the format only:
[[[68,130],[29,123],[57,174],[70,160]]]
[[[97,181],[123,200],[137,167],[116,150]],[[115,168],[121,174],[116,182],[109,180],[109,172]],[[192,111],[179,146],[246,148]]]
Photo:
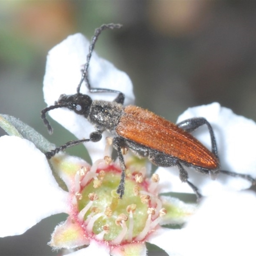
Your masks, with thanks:
[[[141,172],[126,173],[125,193],[120,199],[116,188],[121,170],[114,164],[101,169],[93,165],[89,172],[78,174],[77,219],[85,233],[98,241],[113,245],[142,241],[165,213],[154,195],[156,186],[152,184],[158,182],[157,178],[150,182]]]

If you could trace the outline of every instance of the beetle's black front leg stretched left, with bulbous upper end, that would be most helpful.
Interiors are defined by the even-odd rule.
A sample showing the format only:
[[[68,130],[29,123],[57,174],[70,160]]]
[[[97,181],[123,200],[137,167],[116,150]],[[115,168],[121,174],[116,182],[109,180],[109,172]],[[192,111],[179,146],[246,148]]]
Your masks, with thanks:
[[[45,156],[47,157],[47,159],[51,159],[53,156],[55,156],[57,153],[59,153],[60,151],[63,151],[66,148],[70,148],[73,146],[76,146],[78,144],[84,143],[84,142],[88,142],[88,141],[92,141],[92,142],[97,142],[99,140],[101,140],[102,135],[101,135],[101,131],[97,131],[97,132],[92,132],[90,134],[90,139],[84,139],[84,140],[72,140],[72,141],[68,141],[66,144],[55,148],[51,151],[48,151],[45,154]]]

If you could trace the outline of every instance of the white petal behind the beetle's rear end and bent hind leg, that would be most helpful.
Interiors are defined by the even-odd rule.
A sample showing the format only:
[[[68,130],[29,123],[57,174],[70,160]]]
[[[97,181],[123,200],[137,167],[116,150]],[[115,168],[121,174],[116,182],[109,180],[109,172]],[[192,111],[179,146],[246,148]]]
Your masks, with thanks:
[[[237,116],[230,109],[220,107],[220,104],[216,102],[188,108],[179,116],[177,123],[192,117],[205,117],[212,125],[222,170],[250,174],[253,178],[256,177],[256,150],[254,146],[256,145],[256,124],[254,121],[243,116]],[[209,131],[207,126],[204,126],[200,127],[193,135],[211,150]],[[170,188],[172,187],[172,191],[192,192],[191,188],[179,181],[177,168],[167,169],[170,170],[167,179],[172,183],[169,185]],[[189,181],[198,186],[205,196],[216,190],[241,190],[251,186],[251,182],[241,178],[220,174],[216,180],[211,180],[207,175],[196,173],[191,168],[187,168],[187,170]],[[159,170],[159,175],[160,173],[163,173],[162,168]]]

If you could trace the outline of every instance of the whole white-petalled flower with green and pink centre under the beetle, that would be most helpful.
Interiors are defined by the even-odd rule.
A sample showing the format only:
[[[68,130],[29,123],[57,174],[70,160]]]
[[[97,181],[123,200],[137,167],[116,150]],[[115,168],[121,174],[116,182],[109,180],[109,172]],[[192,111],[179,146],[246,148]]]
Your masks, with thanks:
[[[44,77],[44,97],[48,106],[53,105],[60,94],[76,93],[88,45],[82,35],[76,34],[49,52]],[[89,79],[92,87],[124,92],[125,104],[132,103],[134,97],[129,77],[95,53],[90,63]],[[85,85],[82,85],[81,92],[88,94]],[[116,95],[97,93],[90,96],[93,99],[111,101]],[[90,132],[94,131],[85,118],[65,108],[52,110],[49,114],[78,139],[88,138]],[[223,169],[256,177],[256,125],[253,121],[236,116],[231,110],[213,103],[189,109],[178,122],[194,116],[203,116],[212,124]],[[207,128],[204,130],[202,127],[198,132],[200,133],[196,135],[203,136],[199,140],[210,148]],[[124,198],[115,198],[114,192],[109,197],[109,191],[102,192],[110,189],[110,178],[106,176],[113,175],[111,179],[117,180],[113,186],[115,190],[120,178],[120,168],[118,161],[116,164],[106,164],[109,156],[103,159],[106,155],[104,152],[107,152],[104,150],[105,144],[105,138],[98,143],[85,144],[92,157],[92,167],[82,159],[63,153],[51,159],[53,170],[68,187],[66,192],[54,180],[44,154],[33,143],[14,136],[1,137],[0,235],[22,234],[43,218],[66,212],[69,214],[68,219],[55,228],[50,244],[55,248],[68,249],[89,245],[70,255],[91,255],[96,252],[100,255],[146,255],[146,242],[156,244],[169,255],[255,254],[251,232],[256,228],[256,195],[253,192],[232,191],[248,188],[248,181],[221,174],[217,180],[212,181],[207,175],[188,169],[189,180],[199,187],[203,195],[211,195],[201,202],[194,214],[194,205],[184,204],[169,196],[158,196],[159,193],[175,190],[191,193],[191,188],[179,180],[177,169],[159,167],[156,173],[160,180],[156,176],[154,181],[149,181],[145,162],[137,162],[130,157],[126,159],[130,172],[127,173]],[[138,176],[135,177],[135,174]],[[107,180],[107,186],[104,180]],[[142,196],[146,212],[145,209],[138,211],[143,208],[139,201],[136,206],[129,202],[137,194],[132,189],[134,186],[138,186],[138,196]],[[85,199],[84,189],[91,192],[90,200]],[[105,193],[105,197],[99,196],[102,193]],[[14,201],[17,197],[20,200]],[[106,211],[102,211],[104,204],[98,202],[104,198],[106,201],[107,198],[112,198],[111,210],[118,208],[118,211],[123,211],[126,215],[127,220],[122,214],[116,216],[116,226],[120,225],[120,229],[112,225],[112,222],[107,222],[113,214],[109,209],[104,208]],[[108,206],[107,203],[109,202],[106,202]],[[124,206],[116,207],[120,203]],[[141,214],[137,220],[136,214]],[[194,215],[188,218],[191,214]],[[105,215],[109,215],[108,218]],[[185,220],[187,225],[181,229],[160,226],[182,223]],[[106,221],[107,225],[102,221]],[[139,225],[142,226],[136,230]]]

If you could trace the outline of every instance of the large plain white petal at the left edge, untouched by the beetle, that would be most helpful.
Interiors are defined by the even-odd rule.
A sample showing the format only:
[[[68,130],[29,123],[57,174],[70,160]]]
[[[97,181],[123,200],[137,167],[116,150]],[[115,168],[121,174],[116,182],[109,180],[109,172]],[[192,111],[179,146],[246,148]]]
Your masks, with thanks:
[[[40,220],[65,212],[67,193],[32,142],[2,136],[0,156],[0,236],[22,234]]]

